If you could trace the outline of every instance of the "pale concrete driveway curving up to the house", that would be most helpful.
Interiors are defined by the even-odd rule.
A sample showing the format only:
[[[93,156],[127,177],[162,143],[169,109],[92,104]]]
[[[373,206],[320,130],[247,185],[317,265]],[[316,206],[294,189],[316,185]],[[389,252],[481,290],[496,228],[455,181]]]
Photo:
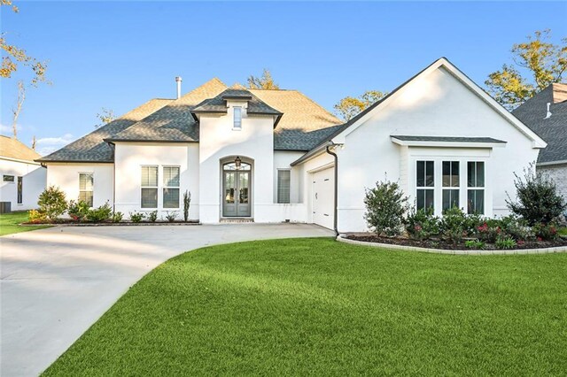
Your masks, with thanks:
[[[52,227],[0,237],[0,375],[42,373],[168,258],[217,243],[332,236],[298,224]]]

